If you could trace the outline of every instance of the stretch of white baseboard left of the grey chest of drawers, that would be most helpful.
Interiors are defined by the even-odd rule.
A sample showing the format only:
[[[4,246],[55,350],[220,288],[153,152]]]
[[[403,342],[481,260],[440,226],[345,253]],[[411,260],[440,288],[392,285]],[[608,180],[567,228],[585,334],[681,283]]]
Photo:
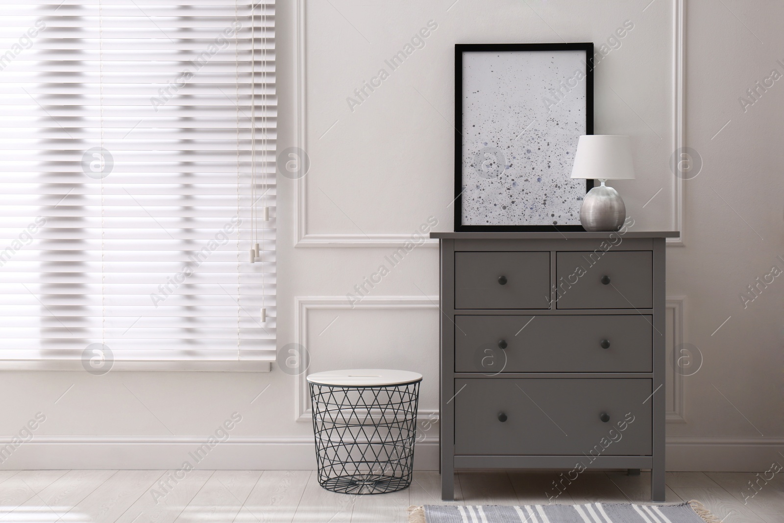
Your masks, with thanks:
[[[0,442],[0,451],[6,443]],[[230,438],[198,454],[204,443],[204,438],[177,437],[37,437],[5,459],[0,456],[0,470],[173,470],[186,461],[198,470],[316,468],[313,438]],[[437,441],[416,444],[414,468],[438,470]]]

